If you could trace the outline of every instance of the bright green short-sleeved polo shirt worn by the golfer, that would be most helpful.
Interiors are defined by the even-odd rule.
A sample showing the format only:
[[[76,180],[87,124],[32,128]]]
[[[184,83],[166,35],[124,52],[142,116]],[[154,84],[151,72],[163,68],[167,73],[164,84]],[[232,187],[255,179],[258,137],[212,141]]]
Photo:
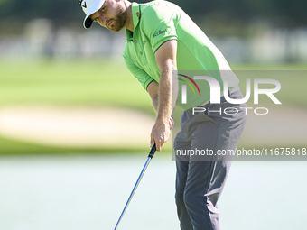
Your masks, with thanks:
[[[144,89],[153,80],[159,83],[160,69],[156,64],[154,52],[165,41],[172,39],[178,41],[178,74],[191,79],[195,75],[210,76],[219,81],[221,91],[223,80],[228,81],[228,87],[237,87],[238,79],[221,52],[179,6],[166,1],[132,3],[132,16],[134,32],[126,29],[123,57],[126,67]],[[184,109],[200,106],[210,97],[210,87],[206,80],[195,80],[199,91],[189,78],[178,75],[178,98],[181,98],[181,86],[188,86],[187,103],[181,103],[181,99],[177,99],[176,103]]]

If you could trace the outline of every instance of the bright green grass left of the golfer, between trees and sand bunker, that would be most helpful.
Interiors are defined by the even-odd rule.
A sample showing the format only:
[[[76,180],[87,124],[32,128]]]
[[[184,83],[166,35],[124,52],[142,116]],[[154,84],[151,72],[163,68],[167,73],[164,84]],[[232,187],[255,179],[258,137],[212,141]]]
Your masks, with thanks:
[[[0,107],[127,106],[151,111],[150,98],[122,62],[63,60],[3,62]]]

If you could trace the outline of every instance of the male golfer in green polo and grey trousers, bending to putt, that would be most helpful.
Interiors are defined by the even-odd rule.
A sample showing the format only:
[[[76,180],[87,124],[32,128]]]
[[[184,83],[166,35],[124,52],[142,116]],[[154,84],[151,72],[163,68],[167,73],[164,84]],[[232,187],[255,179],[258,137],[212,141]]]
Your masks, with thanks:
[[[231,158],[217,153],[237,148],[246,121],[245,111],[240,110],[245,105],[227,100],[242,98],[238,79],[227,60],[191,18],[172,3],[79,0],[79,5],[86,14],[85,28],[93,22],[115,32],[125,28],[126,67],[149,93],[157,114],[151,133],[151,145],[155,143],[157,151],[169,139],[175,104],[184,109],[181,131],[174,140],[175,152],[180,152],[176,154],[175,198],[181,229],[220,229],[217,202]],[[213,89],[206,80],[194,85],[198,94],[182,93],[186,89],[183,85],[188,85],[184,82],[190,80],[191,87],[195,83],[192,71],[204,72],[211,83],[219,82],[220,103],[210,102]],[[223,94],[224,87],[228,97]],[[181,100],[183,96],[187,101]],[[195,107],[202,112],[194,113]],[[228,113],[224,112],[226,108]],[[193,154],[189,154],[191,151]],[[210,154],[194,154],[205,151]]]

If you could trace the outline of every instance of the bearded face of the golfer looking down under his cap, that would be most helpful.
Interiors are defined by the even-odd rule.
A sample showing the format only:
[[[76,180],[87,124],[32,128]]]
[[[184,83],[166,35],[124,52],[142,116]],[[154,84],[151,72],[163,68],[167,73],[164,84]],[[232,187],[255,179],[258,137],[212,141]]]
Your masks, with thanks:
[[[126,5],[123,1],[106,0],[97,12],[90,15],[90,18],[111,31],[119,32],[126,23],[126,16]]]

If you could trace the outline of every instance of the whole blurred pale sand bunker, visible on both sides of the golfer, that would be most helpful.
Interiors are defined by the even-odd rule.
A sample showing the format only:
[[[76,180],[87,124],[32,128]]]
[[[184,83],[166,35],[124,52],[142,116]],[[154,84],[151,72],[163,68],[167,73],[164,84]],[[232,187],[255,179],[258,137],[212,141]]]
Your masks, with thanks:
[[[307,141],[307,110],[248,111],[241,146],[292,147]],[[12,106],[0,109],[0,135],[31,143],[75,147],[149,145],[154,117],[119,108]]]

